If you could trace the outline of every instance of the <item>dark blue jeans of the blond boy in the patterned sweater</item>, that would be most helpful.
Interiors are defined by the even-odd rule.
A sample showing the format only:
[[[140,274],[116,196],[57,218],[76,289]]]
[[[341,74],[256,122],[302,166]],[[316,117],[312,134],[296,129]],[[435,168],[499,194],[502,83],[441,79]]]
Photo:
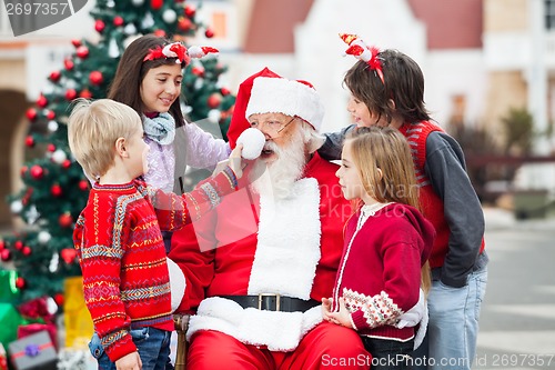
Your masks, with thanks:
[[[137,346],[141,357],[143,370],[164,370],[170,366],[170,339],[171,331],[155,328],[132,329],[130,331],[133,343]],[[115,370],[115,363],[110,361],[105,354],[100,338],[94,333],[89,349],[99,363],[99,370]]]

